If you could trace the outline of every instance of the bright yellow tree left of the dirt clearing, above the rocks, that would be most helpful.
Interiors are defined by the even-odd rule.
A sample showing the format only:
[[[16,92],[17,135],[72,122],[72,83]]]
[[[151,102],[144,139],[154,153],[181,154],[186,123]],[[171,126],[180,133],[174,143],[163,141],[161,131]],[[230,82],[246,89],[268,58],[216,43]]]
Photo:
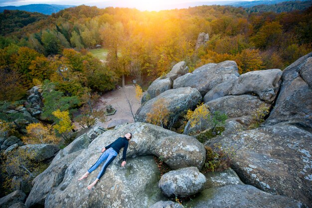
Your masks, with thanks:
[[[70,132],[74,127],[71,124],[68,110],[60,111],[60,109],[57,109],[52,112],[52,114],[58,118],[58,123],[53,126],[54,129],[57,130],[58,133],[60,133],[67,140],[66,133]]]

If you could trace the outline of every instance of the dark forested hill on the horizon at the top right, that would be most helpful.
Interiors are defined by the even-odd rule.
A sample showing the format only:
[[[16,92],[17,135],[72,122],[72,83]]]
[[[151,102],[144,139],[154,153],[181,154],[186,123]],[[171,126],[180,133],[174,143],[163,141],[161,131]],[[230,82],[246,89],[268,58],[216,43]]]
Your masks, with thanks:
[[[273,11],[276,13],[281,12],[290,12],[293,10],[305,10],[312,6],[312,1],[285,1],[278,4],[271,4],[271,5],[257,5],[253,7],[245,8],[245,11],[248,13],[252,12],[267,12]]]

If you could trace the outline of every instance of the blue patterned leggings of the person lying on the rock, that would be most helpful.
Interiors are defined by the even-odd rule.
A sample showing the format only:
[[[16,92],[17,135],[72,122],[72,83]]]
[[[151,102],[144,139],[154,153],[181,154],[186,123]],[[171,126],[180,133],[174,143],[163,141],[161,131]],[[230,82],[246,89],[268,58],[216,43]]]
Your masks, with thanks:
[[[102,162],[104,162],[106,160],[106,162],[104,163],[104,166],[102,167],[102,169],[101,169],[101,171],[97,177],[97,179],[100,179],[104,175],[106,168],[109,166],[109,164],[111,164],[111,162],[113,162],[113,160],[116,158],[117,155],[118,155],[118,153],[113,148],[109,148],[108,150],[105,150],[105,152],[103,152],[103,154],[96,161],[96,163],[94,163],[94,165],[88,170],[88,172],[91,173],[97,167],[99,167],[99,165]]]

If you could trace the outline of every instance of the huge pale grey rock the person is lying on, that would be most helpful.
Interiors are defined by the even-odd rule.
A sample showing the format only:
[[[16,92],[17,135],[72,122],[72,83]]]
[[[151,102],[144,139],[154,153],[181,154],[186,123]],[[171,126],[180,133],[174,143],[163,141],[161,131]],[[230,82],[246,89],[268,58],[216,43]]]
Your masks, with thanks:
[[[121,151],[103,178],[88,191],[87,186],[94,181],[99,170],[92,172],[82,181],[78,181],[78,178],[96,162],[104,146],[128,132],[133,134],[133,138],[127,150],[127,165],[124,168],[120,166]],[[117,130],[106,131],[81,151],[80,154],[74,152],[62,157],[39,175],[34,180],[34,188],[26,204],[42,204],[46,197],[44,206],[47,208],[64,207],[66,204],[99,208],[129,205],[149,207],[160,200],[166,201],[167,198],[158,189],[160,173],[154,159],[151,156],[138,156],[162,157],[172,169],[190,166],[200,169],[205,160],[204,146],[196,139],[148,123],[132,123]],[[79,155],[68,164],[66,158],[74,154]],[[68,164],[67,169],[64,163]],[[58,171],[60,169],[62,171]],[[64,179],[61,180],[62,173]],[[49,180],[44,182],[42,179],[47,176]],[[61,183],[58,184],[59,182]]]

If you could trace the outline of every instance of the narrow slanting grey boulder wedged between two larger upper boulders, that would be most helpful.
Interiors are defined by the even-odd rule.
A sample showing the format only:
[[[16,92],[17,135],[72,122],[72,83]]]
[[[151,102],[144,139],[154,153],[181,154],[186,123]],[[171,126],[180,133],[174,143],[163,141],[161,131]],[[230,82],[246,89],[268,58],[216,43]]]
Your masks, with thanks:
[[[229,80],[228,82],[223,82],[218,84],[216,87],[208,91],[206,95],[204,96],[203,100],[204,103],[207,103],[209,101],[228,96],[229,92],[233,89],[238,77],[233,77],[233,79]]]

